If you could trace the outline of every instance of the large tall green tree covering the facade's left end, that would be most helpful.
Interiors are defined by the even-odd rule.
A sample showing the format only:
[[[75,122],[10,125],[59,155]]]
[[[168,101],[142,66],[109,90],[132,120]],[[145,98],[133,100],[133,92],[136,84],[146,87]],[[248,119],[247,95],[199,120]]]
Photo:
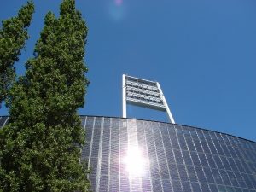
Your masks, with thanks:
[[[0,191],[90,189],[77,113],[88,85],[86,36],[74,0],[63,0],[59,18],[45,16],[26,74],[10,90],[9,125],[0,132]]]

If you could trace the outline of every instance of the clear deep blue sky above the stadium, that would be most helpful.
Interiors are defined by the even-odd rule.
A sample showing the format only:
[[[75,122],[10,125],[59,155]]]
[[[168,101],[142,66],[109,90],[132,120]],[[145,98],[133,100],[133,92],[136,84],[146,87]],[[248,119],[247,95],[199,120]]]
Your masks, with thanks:
[[[2,1],[0,20],[24,0]],[[24,63],[61,0],[34,0]],[[160,82],[178,124],[256,141],[255,0],[77,0],[89,27],[90,87],[80,114],[121,116],[123,73]],[[128,117],[167,121],[166,113],[128,106]],[[0,109],[0,115],[8,109]]]

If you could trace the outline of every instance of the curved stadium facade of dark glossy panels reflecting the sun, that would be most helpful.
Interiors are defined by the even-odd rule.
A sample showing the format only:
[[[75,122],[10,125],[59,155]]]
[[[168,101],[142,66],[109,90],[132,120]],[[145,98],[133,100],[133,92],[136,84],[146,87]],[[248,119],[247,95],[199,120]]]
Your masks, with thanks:
[[[187,125],[81,116],[93,191],[256,192],[256,143]],[[0,126],[8,117],[0,118]]]

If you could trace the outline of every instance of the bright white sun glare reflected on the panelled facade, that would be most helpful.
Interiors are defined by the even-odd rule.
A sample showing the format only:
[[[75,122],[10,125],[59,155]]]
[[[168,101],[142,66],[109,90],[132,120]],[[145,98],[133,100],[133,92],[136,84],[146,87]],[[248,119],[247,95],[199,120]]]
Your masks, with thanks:
[[[130,174],[130,176],[143,176],[146,160],[143,158],[139,148],[130,146],[124,159],[124,163],[126,165],[126,171]]]

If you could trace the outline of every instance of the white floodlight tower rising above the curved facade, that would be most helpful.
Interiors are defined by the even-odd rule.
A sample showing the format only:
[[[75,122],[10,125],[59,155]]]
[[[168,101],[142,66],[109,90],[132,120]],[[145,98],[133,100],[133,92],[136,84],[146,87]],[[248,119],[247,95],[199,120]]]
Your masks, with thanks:
[[[123,118],[126,118],[126,104],[165,111],[172,124],[175,121],[158,82],[123,74]]]

